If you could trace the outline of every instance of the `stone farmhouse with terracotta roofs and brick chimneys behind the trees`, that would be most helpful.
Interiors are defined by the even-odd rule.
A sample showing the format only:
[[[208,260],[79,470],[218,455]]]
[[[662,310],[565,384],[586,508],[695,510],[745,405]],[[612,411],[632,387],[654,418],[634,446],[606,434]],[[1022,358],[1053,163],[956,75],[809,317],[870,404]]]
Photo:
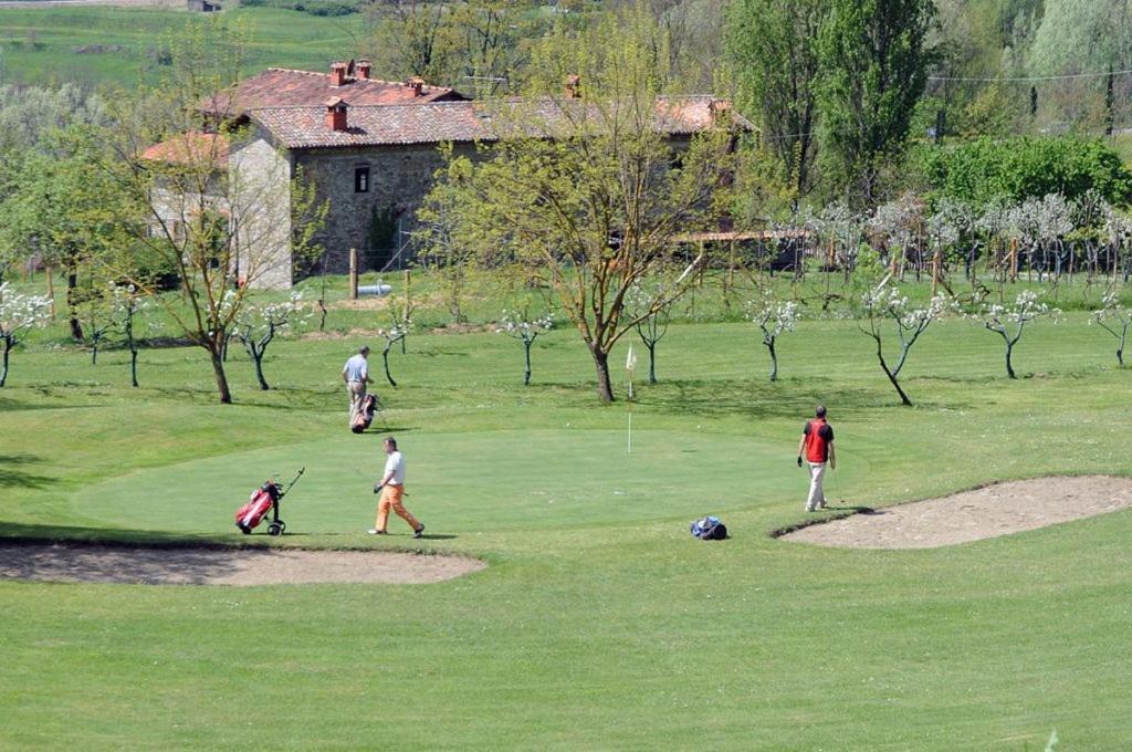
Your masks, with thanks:
[[[557,105],[548,101],[546,106]],[[272,68],[203,109],[217,123],[249,127],[250,136],[232,148],[226,164],[245,185],[259,186],[257,200],[269,205],[269,211],[259,212],[258,230],[259,245],[265,246],[259,253],[269,255],[272,264],[269,272],[257,275],[256,287],[292,283],[289,186],[297,174],[314,181],[319,199],[328,204],[318,238],[326,258],[318,266],[342,273],[351,248],[370,248],[376,216],[395,221],[389,247],[403,243],[443,165],[441,144],[471,155],[478,144],[498,139],[484,103],[419,78],[374,79],[367,61],[335,62],[329,74]],[[713,127],[727,109],[728,102],[712,96],[664,100],[658,103],[658,128],[687,140]],[[209,136],[183,135],[151,147],[146,156],[168,159],[171,144],[194,137]]]

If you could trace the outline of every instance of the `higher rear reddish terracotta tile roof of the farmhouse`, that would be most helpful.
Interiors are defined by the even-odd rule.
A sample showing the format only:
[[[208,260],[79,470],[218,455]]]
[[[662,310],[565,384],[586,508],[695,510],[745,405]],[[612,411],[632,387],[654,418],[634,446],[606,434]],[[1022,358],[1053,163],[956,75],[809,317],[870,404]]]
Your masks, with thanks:
[[[201,104],[208,113],[234,117],[248,110],[277,106],[315,106],[332,96],[340,96],[350,105],[398,104],[405,102],[437,102],[463,99],[444,86],[421,86],[418,96],[410,82],[397,83],[376,78],[346,78],[342,86],[331,86],[331,75],[312,70],[268,68],[245,78],[233,92],[222,94]]]

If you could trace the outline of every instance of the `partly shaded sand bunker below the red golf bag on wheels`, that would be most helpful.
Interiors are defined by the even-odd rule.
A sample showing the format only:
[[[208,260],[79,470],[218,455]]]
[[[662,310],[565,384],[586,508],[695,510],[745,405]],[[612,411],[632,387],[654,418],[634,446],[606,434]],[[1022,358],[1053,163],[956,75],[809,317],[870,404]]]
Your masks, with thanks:
[[[134,584],[423,584],[478,572],[483,562],[395,552],[142,548],[0,542],[0,580]]]

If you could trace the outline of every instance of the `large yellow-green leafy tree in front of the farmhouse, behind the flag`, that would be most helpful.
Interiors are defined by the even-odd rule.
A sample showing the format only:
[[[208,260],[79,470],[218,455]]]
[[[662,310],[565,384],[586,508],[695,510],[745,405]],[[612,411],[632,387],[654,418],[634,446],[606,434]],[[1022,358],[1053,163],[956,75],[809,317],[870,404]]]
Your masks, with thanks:
[[[706,126],[686,144],[666,135],[687,131],[694,103],[662,96],[671,84],[663,49],[643,6],[581,34],[559,29],[540,45],[529,96],[490,110],[499,138],[491,159],[468,165],[456,187],[460,232],[482,249],[482,263],[517,262],[550,291],[585,342],[607,402],[614,345],[680,298],[703,266],[703,253],[680,264],[676,239],[718,227],[732,162],[736,119],[722,103],[702,103]],[[627,311],[638,281],[678,265],[684,273],[663,298]]]

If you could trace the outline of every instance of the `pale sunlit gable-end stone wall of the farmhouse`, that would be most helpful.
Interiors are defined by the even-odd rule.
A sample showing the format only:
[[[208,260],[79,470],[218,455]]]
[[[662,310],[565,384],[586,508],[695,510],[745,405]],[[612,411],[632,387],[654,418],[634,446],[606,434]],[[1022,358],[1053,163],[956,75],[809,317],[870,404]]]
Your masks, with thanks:
[[[291,156],[254,138],[229,156],[229,200],[238,222],[237,273],[249,287],[292,284]]]

